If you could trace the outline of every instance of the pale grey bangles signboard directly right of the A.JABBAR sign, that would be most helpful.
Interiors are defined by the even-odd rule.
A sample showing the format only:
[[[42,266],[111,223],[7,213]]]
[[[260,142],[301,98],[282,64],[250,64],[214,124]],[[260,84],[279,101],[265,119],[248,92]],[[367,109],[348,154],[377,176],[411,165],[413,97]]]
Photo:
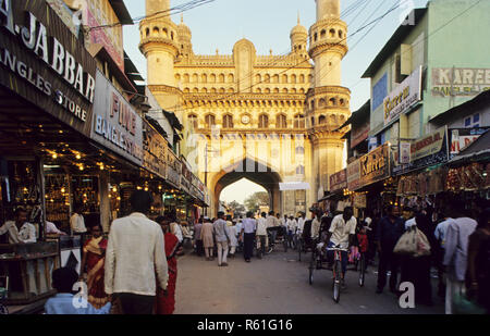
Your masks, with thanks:
[[[97,71],[96,78],[97,95],[90,138],[142,166],[142,117],[101,72]]]

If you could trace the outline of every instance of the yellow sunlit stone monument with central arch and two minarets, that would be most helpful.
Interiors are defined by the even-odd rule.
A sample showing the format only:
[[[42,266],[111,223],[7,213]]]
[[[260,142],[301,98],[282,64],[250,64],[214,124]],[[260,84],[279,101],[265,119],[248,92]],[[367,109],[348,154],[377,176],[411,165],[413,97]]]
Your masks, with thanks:
[[[347,27],[340,0],[316,2],[317,22],[308,32],[298,18],[285,55],[259,55],[247,39],[232,54],[198,55],[191,28],[164,14],[170,0],[146,1],[139,47],[148,88],[185,125],[182,152],[211,190],[212,213],[221,190],[243,177],[269,190],[274,211],[306,211],[343,167]]]

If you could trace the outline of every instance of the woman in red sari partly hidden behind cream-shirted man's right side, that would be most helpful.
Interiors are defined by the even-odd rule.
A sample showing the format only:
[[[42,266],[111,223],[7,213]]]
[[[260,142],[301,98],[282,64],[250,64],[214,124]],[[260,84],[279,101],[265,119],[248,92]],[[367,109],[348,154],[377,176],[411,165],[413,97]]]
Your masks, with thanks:
[[[170,220],[158,217],[157,223],[163,229],[163,238],[166,242],[166,256],[169,267],[169,282],[167,290],[157,289],[157,300],[155,302],[155,313],[157,315],[170,315],[175,310],[175,284],[176,284],[176,248],[179,246],[177,237],[171,233]]]

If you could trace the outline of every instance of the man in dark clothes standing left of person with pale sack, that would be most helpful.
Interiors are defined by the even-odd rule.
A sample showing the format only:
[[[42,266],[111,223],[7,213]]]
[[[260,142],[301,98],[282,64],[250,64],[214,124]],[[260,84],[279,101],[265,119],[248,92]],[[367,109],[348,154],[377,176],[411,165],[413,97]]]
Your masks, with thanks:
[[[387,215],[382,217],[375,233],[375,242],[379,252],[377,294],[383,293],[387,284],[387,271],[390,275],[390,290],[397,293],[397,274],[400,261],[393,249],[405,232],[405,221],[394,214],[393,206],[388,206]]]

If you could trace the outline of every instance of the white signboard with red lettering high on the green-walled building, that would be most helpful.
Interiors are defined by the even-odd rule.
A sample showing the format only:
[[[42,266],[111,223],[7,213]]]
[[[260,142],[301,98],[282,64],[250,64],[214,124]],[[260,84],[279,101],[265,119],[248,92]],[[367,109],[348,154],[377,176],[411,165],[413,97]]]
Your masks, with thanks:
[[[419,66],[384,98],[384,125],[397,120],[421,100],[421,74],[422,70]]]

